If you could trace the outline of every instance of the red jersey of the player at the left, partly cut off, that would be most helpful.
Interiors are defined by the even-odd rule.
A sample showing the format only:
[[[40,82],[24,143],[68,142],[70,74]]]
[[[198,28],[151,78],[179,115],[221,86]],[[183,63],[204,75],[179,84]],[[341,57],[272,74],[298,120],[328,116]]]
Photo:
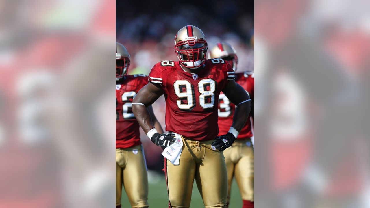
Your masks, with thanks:
[[[148,84],[144,74],[127,75],[116,83],[116,149],[140,145],[139,123],[132,113],[132,100],[138,91]]]

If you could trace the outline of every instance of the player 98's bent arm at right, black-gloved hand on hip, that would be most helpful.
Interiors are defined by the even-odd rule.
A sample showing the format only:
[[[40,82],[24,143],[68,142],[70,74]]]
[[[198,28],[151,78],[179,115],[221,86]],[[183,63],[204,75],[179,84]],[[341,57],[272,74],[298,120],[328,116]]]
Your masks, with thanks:
[[[223,151],[226,148],[231,147],[232,143],[236,140],[240,130],[242,130],[245,122],[247,121],[250,109],[252,107],[249,95],[246,93],[243,87],[237,84],[234,80],[231,80],[223,88],[222,92],[233,104],[237,106],[237,108],[235,108],[233,122],[229,132],[221,135],[212,142],[213,147],[219,151]]]

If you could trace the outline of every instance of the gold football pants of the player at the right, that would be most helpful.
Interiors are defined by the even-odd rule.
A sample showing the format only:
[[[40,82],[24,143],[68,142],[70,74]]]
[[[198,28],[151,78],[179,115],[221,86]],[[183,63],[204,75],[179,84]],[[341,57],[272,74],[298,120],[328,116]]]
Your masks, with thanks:
[[[228,170],[228,202],[234,176],[242,199],[254,201],[254,150],[250,138],[235,140],[223,154]]]

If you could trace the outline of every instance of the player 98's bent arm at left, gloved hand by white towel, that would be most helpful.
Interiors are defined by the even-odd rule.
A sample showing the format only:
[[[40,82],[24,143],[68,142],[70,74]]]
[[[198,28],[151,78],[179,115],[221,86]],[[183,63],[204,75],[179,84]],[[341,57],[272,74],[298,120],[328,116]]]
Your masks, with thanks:
[[[138,92],[132,101],[132,113],[134,113],[142,130],[150,138],[150,140],[158,146],[166,146],[173,144],[175,138],[168,133],[158,132],[152,122],[151,115],[147,106],[153,104],[161,95],[163,90],[160,85],[148,83]],[[163,137],[162,137],[163,136]]]

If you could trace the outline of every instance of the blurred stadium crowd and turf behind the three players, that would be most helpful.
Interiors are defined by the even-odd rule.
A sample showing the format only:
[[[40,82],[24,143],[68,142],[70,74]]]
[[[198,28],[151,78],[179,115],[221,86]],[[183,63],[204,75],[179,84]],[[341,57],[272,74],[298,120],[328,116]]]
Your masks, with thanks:
[[[206,36],[208,51],[219,41],[230,43],[239,57],[238,70],[254,71],[254,2],[199,1],[181,7],[168,1],[116,1],[116,40],[127,47],[131,64],[129,74],[148,75],[161,60],[178,60],[174,38],[186,25],[199,27]],[[165,100],[153,104],[154,113],[165,129]],[[184,124],[186,125],[186,124]],[[199,127],[201,128],[201,127]],[[215,127],[216,128],[216,127]],[[164,181],[162,149],[155,146],[141,131],[149,178],[149,205],[165,206],[168,201]],[[233,185],[231,207],[241,207],[236,184]],[[128,203],[125,193],[122,204]],[[194,185],[191,207],[202,207],[199,191]]]

